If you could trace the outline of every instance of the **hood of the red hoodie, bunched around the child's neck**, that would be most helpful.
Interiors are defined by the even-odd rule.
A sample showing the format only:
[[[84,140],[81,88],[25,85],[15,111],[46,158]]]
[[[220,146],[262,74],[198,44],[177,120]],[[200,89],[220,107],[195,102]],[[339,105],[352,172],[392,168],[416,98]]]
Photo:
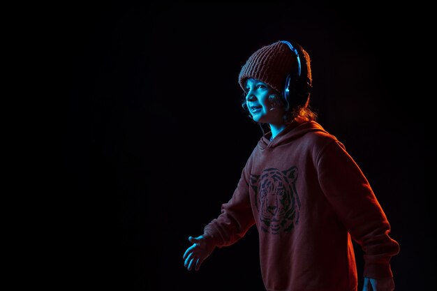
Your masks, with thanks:
[[[316,121],[306,121],[301,124],[292,122],[286,128],[284,128],[281,133],[276,135],[276,137],[274,137],[272,141],[270,141],[270,137],[272,137],[272,132],[268,132],[263,135],[258,142],[258,148],[261,150],[267,148],[272,149],[274,147],[278,147],[281,144],[287,144],[289,142],[292,142],[293,140],[302,137],[310,131],[320,131],[322,133],[327,133],[327,131]]]

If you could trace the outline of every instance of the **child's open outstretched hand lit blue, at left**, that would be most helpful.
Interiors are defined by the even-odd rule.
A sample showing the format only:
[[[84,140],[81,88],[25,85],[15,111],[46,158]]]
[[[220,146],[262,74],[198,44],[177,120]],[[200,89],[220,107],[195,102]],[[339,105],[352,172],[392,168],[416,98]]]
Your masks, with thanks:
[[[188,241],[193,243],[184,253],[184,267],[191,271],[193,267],[198,271],[202,262],[211,255],[216,247],[212,240],[206,239],[205,236],[188,237]]]

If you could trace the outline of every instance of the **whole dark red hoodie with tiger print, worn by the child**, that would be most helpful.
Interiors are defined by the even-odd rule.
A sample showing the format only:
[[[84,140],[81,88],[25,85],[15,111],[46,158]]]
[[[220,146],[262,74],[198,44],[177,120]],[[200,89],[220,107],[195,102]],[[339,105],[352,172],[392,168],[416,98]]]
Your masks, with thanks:
[[[357,290],[352,239],[364,276],[392,276],[399,244],[369,181],[336,137],[315,121],[261,137],[232,198],[205,227],[219,248],[256,225],[268,291]]]

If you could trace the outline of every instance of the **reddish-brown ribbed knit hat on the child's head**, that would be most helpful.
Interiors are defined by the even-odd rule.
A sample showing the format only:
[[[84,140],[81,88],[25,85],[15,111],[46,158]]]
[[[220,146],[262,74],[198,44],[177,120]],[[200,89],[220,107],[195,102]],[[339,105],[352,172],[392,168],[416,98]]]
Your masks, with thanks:
[[[297,71],[296,56],[286,43],[278,41],[261,47],[249,57],[239,73],[238,82],[246,91],[246,80],[252,77],[282,94],[286,77],[293,71]]]

